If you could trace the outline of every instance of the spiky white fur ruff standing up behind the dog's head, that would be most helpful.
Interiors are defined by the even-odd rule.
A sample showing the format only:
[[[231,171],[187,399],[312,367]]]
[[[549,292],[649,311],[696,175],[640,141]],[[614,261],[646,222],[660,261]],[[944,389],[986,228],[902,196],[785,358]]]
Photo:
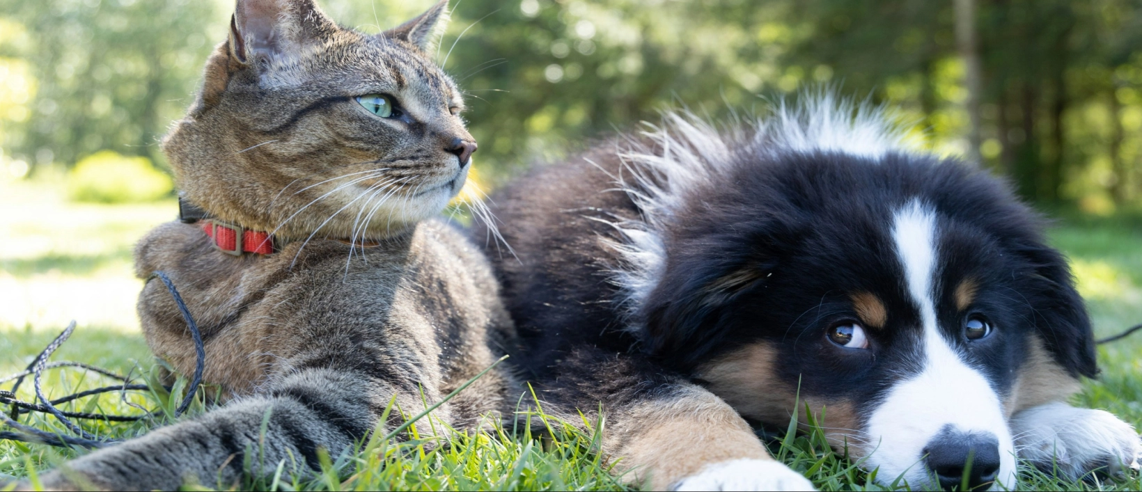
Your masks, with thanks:
[[[628,314],[637,312],[662,276],[666,244],[661,232],[692,194],[731,170],[738,161],[734,153],[827,152],[874,161],[917,148],[883,107],[827,91],[805,99],[797,106],[780,103],[769,116],[725,131],[689,112],[667,113],[661,126],[646,123],[649,129],[642,134],[661,148],[661,155],[638,143],[619,154],[625,166],[614,177],[617,187],[642,211],[636,220],[610,223],[622,236],[608,245],[619,252],[612,281],[621,289],[619,301]],[[637,330],[638,320],[629,321]]]

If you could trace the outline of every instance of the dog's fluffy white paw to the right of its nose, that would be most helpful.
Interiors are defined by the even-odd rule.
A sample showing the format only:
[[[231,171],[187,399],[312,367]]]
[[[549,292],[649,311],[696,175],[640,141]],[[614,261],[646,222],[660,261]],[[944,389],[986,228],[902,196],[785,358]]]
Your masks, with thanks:
[[[1071,479],[1096,469],[1111,475],[1136,470],[1142,457],[1137,431],[1102,410],[1048,403],[1016,413],[1011,430],[1021,459]]]

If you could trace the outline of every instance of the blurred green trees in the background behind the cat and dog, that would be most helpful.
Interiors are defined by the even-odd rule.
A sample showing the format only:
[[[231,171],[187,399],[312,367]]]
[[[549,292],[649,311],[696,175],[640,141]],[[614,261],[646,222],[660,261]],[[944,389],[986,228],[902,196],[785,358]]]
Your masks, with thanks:
[[[324,0],[391,27],[429,0]],[[814,84],[901,110],[939,152],[970,121],[950,0],[460,0],[439,62],[468,91],[492,180],[685,105],[764,111]],[[110,148],[162,166],[228,0],[0,0],[0,148],[9,172]],[[979,151],[1040,202],[1142,197],[1142,5],[978,0]]]

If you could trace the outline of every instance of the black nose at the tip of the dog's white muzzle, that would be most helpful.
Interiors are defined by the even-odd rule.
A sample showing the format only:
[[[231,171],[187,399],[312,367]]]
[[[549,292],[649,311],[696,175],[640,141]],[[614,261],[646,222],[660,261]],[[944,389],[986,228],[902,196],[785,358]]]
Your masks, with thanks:
[[[999,439],[991,433],[964,433],[948,426],[928,441],[924,453],[940,487],[948,491],[974,490],[995,482],[999,471]]]

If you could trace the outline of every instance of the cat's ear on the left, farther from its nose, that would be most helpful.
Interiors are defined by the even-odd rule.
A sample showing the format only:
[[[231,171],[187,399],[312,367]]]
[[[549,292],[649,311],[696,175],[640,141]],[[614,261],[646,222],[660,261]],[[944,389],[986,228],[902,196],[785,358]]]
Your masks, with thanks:
[[[231,56],[249,64],[328,39],[337,24],[313,0],[238,0],[230,21]]]

